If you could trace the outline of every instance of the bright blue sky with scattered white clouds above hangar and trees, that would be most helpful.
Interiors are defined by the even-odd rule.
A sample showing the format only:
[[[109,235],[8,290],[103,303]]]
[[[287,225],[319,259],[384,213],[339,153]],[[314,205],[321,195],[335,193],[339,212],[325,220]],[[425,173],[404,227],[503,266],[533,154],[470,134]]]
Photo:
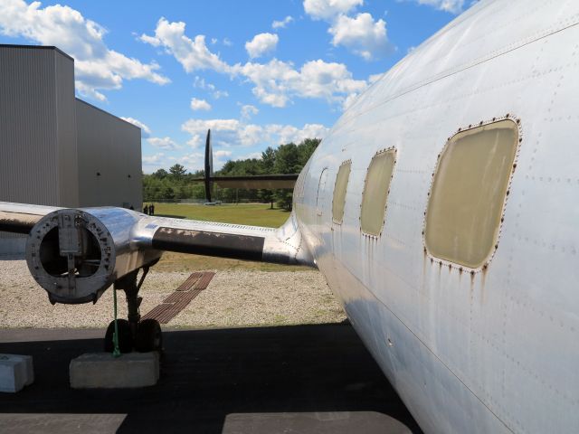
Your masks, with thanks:
[[[143,170],[323,138],[465,0],[0,0],[0,43],[75,58],[77,95],[142,128]]]

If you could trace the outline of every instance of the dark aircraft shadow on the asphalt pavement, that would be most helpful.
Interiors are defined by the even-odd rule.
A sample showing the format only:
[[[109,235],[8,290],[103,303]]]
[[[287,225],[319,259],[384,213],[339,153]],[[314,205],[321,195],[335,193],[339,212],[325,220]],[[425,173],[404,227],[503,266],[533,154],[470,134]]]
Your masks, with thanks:
[[[270,413],[308,413],[305,419],[313,413],[339,420],[352,412],[354,421],[374,415],[381,423],[387,415],[422,432],[351,325],[168,330],[156,386],[71,390],[71,359],[101,351],[103,334],[0,331],[0,353],[33,355],[36,377],[22,392],[0,394],[0,428],[220,433],[228,431],[226,420],[239,429],[243,415],[263,421]],[[261,431],[254,417],[250,423],[254,429],[231,432],[273,432]]]

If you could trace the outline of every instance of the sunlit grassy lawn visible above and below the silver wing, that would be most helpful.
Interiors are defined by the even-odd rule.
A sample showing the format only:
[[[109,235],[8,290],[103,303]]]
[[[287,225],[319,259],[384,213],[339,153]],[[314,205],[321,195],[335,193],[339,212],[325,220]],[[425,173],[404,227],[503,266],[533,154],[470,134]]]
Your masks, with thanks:
[[[239,205],[194,205],[177,203],[155,203],[155,214],[177,219],[201,220],[249,224],[252,226],[280,227],[289,217],[289,212],[278,208],[270,209],[269,203]],[[166,252],[155,266],[158,271],[195,271],[195,269],[257,269],[261,271],[302,270],[304,267],[264,264],[239,259],[212,258],[185,253]]]

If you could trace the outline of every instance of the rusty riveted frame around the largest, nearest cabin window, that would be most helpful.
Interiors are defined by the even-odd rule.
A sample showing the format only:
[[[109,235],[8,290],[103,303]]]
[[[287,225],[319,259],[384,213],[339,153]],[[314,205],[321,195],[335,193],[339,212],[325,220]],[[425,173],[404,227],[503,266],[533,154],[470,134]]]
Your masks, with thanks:
[[[427,237],[428,236],[428,221],[429,221],[429,211],[430,211],[431,203],[433,200],[432,192],[434,190],[435,183],[437,181],[437,175],[439,172],[439,168],[441,167],[445,153],[450,148],[450,146],[452,146],[456,142],[458,142],[460,140],[460,138],[468,137],[470,132],[472,132],[476,129],[479,129],[479,128],[488,127],[490,125],[498,124],[498,123],[505,122],[505,121],[512,123],[512,125],[510,127],[513,128],[513,130],[516,132],[517,136],[515,137],[515,140],[514,140],[514,150],[512,152],[513,159],[512,159],[512,163],[510,165],[510,170],[508,171],[508,175],[507,175],[507,179],[505,180],[506,181],[505,184],[502,184],[502,185],[506,186],[504,189],[505,193],[504,193],[504,197],[502,197],[502,203],[500,204],[500,207],[498,208],[498,212],[497,212],[498,219],[496,220],[496,222],[498,222],[498,225],[497,225],[496,230],[493,232],[492,242],[489,244],[490,249],[487,251],[487,253],[483,259],[480,259],[479,262],[474,263],[474,264],[473,263],[465,263],[466,261],[459,261],[459,260],[456,260],[456,258],[449,259],[449,258],[441,257],[441,255],[437,256],[436,254],[432,253],[432,249],[429,247],[429,243],[427,241],[427,238],[428,238]],[[481,131],[485,131],[485,130],[481,129]],[[510,196],[511,185],[513,182],[513,176],[515,175],[515,172],[516,172],[517,160],[518,160],[518,156],[519,156],[519,152],[520,152],[520,146],[521,146],[522,142],[523,142],[523,131],[522,131],[522,127],[521,127],[521,119],[517,118],[516,116],[513,116],[511,114],[507,114],[506,116],[499,117],[499,118],[492,118],[492,119],[487,120],[487,121],[480,121],[479,123],[471,124],[468,127],[461,127],[451,137],[449,137],[447,139],[445,145],[442,148],[441,153],[437,157],[437,162],[436,162],[434,171],[432,173],[432,181],[431,181],[431,186],[430,186],[429,193],[428,193],[428,200],[426,203],[426,211],[424,212],[424,221],[422,224],[422,242],[423,242],[423,246],[424,246],[423,247],[424,253],[426,255],[428,255],[428,257],[431,259],[431,261],[439,263],[440,265],[448,266],[451,269],[459,269],[460,271],[469,270],[471,274],[480,272],[481,270],[487,269],[489,267],[490,261],[494,258],[495,254],[498,250],[498,244],[500,241],[500,236],[501,236],[502,228],[503,228],[504,221],[505,221],[505,213],[507,210],[508,198]],[[434,249],[434,250],[436,250],[436,249]]]

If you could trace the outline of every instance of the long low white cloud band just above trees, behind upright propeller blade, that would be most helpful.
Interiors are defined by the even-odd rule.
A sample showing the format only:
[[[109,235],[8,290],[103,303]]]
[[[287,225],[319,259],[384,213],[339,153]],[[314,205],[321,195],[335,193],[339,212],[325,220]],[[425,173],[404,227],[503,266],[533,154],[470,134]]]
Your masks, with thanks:
[[[267,124],[248,124],[238,119],[189,119],[181,127],[191,135],[187,142],[193,147],[204,144],[207,129],[211,129],[215,146],[255,146],[259,144],[282,145],[299,143],[305,138],[322,138],[328,128],[320,124],[306,124],[304,127]]]

